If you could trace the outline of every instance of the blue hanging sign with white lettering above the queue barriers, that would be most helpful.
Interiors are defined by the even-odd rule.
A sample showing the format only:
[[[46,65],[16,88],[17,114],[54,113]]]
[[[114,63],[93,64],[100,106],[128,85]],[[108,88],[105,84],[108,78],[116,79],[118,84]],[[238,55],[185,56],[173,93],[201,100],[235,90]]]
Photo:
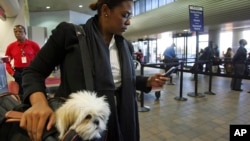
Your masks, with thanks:
[[[189,6],[190,31],[204,31],[203,7]]]

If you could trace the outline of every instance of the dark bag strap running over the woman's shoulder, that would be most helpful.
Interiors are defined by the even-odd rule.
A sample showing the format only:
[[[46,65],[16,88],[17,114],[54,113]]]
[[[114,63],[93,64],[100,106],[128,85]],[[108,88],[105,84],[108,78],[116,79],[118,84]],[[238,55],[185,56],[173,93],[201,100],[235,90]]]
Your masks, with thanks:
[[[86,33],[82,26],[75,25],[76,36],[79,40],[80,52],[82,58],[82,66],[84,71],[85,85],[87,90],[94,90],[94,80],[93,80],[93,63],[91,58],[91,51],[87,45]]]

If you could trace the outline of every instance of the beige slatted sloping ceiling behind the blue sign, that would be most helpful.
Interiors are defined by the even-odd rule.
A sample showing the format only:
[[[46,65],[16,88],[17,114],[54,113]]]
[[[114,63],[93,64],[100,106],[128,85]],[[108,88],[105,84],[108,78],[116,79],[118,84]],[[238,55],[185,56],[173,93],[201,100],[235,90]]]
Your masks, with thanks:
[[[189,29],[189,5],[203,7],[205,31],[250,28],[250,0],[178,0],[132,19],[127,37]],[[148,32],[149,31],[149,32]]]

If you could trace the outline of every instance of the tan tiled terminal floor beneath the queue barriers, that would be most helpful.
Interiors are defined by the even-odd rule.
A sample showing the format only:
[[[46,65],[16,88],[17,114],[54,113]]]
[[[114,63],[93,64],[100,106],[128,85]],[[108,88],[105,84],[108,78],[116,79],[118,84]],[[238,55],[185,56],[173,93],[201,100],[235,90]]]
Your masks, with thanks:
[[[215,95],[191,97],[195,92],[193,75],[184,73],[182,98],[180,76],[175,85],[164,86],[159,100],[154,93],[144,95],[148,112],[139,112],[141,141],[229,141],[230,124],[250,124],[250,80],[242,81],[244,91],[230,89],[230,78],[213,77]],[[198,93],[209,91],[209,77],[198,75]],[[138,102],[139,107],[140,102]]]

